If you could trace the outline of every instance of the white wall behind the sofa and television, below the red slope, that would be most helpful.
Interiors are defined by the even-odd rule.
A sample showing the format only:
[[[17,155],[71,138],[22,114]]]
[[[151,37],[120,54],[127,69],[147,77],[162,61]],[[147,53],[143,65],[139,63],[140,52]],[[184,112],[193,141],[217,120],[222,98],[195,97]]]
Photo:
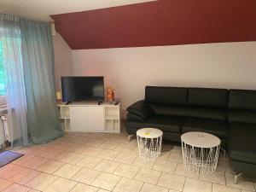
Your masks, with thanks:
[[[72,50],[73,75],[102,75],[125,108],[145,85],[256,90],[256,42]]]

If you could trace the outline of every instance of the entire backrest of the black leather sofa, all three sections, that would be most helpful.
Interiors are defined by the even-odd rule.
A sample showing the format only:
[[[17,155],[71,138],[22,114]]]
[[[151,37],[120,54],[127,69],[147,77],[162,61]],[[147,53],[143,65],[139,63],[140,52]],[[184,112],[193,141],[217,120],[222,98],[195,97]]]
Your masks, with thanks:
[[[145,102],[157,115],[256,124],[256,90],[147,86]]]

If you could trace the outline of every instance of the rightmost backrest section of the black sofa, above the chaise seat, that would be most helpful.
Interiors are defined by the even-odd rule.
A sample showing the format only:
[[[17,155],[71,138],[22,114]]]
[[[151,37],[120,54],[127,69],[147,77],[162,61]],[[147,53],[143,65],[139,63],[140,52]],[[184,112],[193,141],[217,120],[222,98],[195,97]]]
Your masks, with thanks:
[[[230,90],[230,123],[256,124],[256,90]]]

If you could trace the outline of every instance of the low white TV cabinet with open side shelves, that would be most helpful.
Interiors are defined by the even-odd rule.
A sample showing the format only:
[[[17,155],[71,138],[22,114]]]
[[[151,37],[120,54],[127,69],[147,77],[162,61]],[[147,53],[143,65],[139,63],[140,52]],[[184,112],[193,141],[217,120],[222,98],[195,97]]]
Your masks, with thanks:
[[[120,132],[120,103],[73,102],[57,107],[63,131]]]

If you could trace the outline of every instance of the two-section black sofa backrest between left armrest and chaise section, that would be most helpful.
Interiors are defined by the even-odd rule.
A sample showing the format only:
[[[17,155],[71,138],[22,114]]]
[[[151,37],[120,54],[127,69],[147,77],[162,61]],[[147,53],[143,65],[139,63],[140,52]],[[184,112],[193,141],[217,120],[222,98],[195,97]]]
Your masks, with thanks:
[[[156,115],[226,120],[228,90],[147,86],[145,102]]]

